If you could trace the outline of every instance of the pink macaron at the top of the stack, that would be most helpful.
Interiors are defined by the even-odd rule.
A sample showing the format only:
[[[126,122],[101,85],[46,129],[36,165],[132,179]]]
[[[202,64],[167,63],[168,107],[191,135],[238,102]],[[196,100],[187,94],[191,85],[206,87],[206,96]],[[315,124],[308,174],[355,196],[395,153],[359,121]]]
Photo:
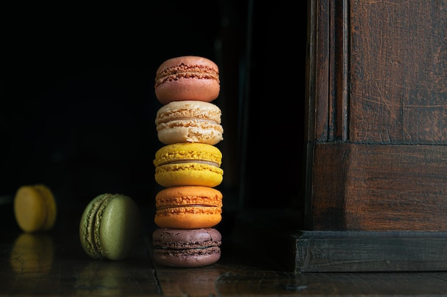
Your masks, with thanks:
[[[219,67],[208,58],[170,58],[156,71],[155,95],[161,104],[183,100],[211,102],[219,92]]]

